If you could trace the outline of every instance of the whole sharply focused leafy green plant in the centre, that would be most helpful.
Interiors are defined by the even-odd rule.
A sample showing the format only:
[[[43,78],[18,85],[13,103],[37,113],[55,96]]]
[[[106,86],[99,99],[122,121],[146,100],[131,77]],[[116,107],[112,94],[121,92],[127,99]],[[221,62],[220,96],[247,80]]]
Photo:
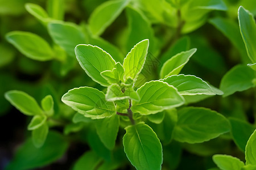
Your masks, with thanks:
[[[107,87],[106,94],[96,88],[79,87],[69,90],[61,100],[96,122],[97,134],[110,150],[115,146],[119,126],[125,121],[128,125],[125,125],[122,143],[131,164],[137,169],[161,169],[163,149],[156,135],[158,131],[155,133],[145,122],[160,126],[172,124],[173,134],[164,134],[166,143],[172,135],[180,142],[204,142],[229,131],[229,125],[221,114],[205,108],[185,107],[177,113],[176,108],[183,105],[187,97],[222,94],[196,76],[179,75],[196,49],[166,61],[160,71],[163,79],[146,82],[136,90],[134,84],[146,61],[148,45],[147,39],[138,42],[122,64],[97,46],[77,45],[75,53],[80,66],[95,82]],[[166,121],[170,117],[171,121],[163,123],[164,117]],[[216,128],[213,124],[217,124]]]

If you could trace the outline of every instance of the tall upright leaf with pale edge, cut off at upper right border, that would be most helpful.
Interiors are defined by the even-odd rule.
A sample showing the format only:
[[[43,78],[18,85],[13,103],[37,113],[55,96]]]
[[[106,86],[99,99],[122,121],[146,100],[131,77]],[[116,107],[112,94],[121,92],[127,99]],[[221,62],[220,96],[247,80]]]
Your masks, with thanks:
[[[240,32],[245,42],[247,54],[253,63],[256,62],[256,24],[253,14],[242,6],[238,9]]]

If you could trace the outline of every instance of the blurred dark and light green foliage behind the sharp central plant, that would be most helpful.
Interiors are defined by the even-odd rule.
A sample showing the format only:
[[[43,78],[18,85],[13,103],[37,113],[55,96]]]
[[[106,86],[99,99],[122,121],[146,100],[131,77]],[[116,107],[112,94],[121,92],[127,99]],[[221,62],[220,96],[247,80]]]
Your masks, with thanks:
[[[149,39],[146,67],[137,87],[148,80],[159,79],[160,68],[167,59],[197,48],[181,73],[196,75],[220,87],[223,76],[232,67],[250,63],[237,20],[241,5],[256,15],[256,5],[251,0],[0,0],[0,169],[10,161],[9,169],[70,169],[89,148],[94,152],[86,152],[88,159],[92,159],[88,169],[109,158],[110,151],[93,133],[90,122],[75,124],[75,112],[60,101],[61,96],[74,87],[104,90],[79,66],[73,50],[77,44],[100,46],[116,61],[122,61],[137,42]],[[27,32],[26,39],[24,32]],[[34,41],[38,36],[39,40]],[[28,50],[19,50],[14,39],[23,42]],[[40,45],[41,40],[46,42],[48,51]],[[34,48],[30,48],[31,45]],[[221,90],[225,90],[224,86]],[[234,129],[246,127],[237,131],[241,130],[240,133],[249,138],[255,129],[256,93],[255,88],[250,88],[253,86],[255,83],[249,83],[243,89],[246,91],[235,94],[232,91],[227,97],[214,96],[189,105],[224,114]],[[59,124],[53,123],[55,131],[49,134],[44,148],[40,148],[42,151],[34,151],[30,139],[24,143],[30,137],[26,130],[30,118],[20,114],[4,98],[9,90],[27,92],[38,102],[46,95],[53,96],[53,119]],[[79,132],[72,133],[75,131]],[[124,130],[119,133],[123,134]],[[163,146],[163,169],[210,169],[215,167],[213,154],[228,154],[244,160],[244,146],[235,143],[233,135],[236,132],[194,145],[174,141]],[[133,169],[123,153],[121,140],[117,139],[114,150],[115,166],[109,168],[103,163],[109,169]],[[49,154],[46,150],[56,152]],[[40,160],[32,160],[34,163],[30,164],[35,152],[42,153]],[[82,164],[82,160],[80,162]],[[81,168],[79,166],[76,164],[73,169]]]

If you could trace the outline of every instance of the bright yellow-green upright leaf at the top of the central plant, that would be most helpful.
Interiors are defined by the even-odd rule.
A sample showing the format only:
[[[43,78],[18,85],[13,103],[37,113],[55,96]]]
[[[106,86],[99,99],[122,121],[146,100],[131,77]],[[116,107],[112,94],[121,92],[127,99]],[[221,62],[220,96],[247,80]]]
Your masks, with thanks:
[[[123,60],[123,68],[125,70],[125,79],[136,79],[144,66],[147,56],[149,41],[142,40],[134,46]]]

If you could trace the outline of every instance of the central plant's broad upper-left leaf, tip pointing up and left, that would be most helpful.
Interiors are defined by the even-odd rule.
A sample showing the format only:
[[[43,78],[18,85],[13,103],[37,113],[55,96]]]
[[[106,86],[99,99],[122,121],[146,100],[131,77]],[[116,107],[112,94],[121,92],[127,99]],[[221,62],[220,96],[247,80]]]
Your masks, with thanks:
[[[108,81],[101,76],[102,71],[114,69],[115,61],[109,53],[92,45],[77,45],[75,53],[80,66],[94,82],[109,86]]]

